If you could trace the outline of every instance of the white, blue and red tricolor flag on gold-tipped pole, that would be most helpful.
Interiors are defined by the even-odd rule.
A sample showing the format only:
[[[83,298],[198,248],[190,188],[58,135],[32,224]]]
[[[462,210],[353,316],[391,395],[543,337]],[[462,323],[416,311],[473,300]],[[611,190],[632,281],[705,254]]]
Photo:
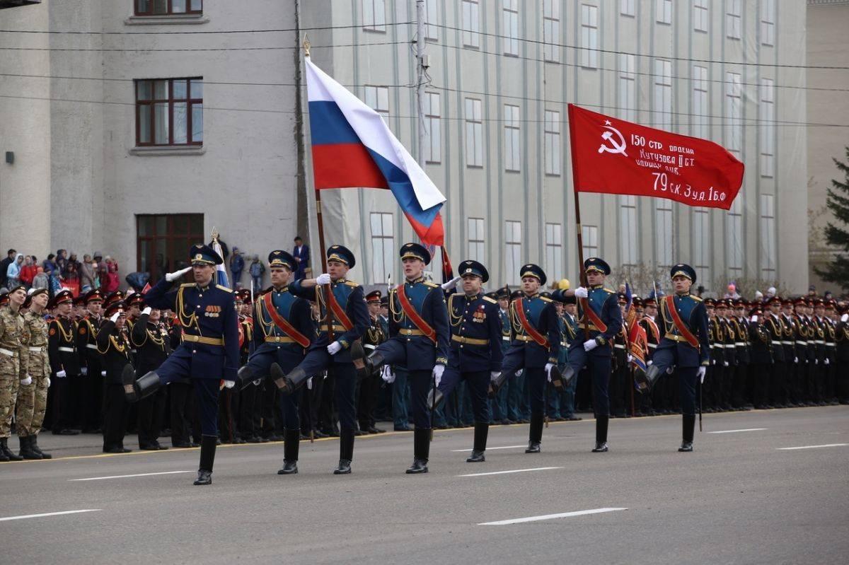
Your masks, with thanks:
[[[315,187],[389,188],[422,242],[442,245],[445,197],[377,112],[305,60]]]

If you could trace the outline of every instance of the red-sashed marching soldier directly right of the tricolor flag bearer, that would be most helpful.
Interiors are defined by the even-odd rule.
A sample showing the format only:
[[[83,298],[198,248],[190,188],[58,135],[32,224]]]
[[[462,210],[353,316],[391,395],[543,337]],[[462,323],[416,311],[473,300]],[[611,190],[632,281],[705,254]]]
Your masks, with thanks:
[[[404,282],[390,291],[389,339],[368,355],[369,368],[402,365],[408,370],[413,405],[413,465],[407,473],[427,473],[430,456],[428,392],[436,389],[448,363],[448,310],[440,285],[422,277],[430,252],[419,243],[405,243],[400,254]],[[453,280],[456,284],[456,279]]]

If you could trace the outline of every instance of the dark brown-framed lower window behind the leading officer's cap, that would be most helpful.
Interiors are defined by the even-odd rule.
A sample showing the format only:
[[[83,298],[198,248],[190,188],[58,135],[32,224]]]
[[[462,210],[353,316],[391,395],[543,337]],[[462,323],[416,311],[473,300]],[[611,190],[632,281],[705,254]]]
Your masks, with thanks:
[[[136,215],[136,271],[158,281],[187,267],[188,248],[203,240],[203,214]]]

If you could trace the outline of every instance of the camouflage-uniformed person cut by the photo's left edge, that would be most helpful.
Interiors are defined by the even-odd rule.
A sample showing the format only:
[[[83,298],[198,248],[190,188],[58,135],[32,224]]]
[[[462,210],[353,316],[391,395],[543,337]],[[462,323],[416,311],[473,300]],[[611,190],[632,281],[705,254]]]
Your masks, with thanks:
[[[24,317],[20,315],[25,299],[26,288],[20,284],[9,290],[8,305],[0,308],[0,462],[21,460],[8,449],[8,436],[18,388],[31,383],[20,362],[26,357],[25,344],[29,342]]]

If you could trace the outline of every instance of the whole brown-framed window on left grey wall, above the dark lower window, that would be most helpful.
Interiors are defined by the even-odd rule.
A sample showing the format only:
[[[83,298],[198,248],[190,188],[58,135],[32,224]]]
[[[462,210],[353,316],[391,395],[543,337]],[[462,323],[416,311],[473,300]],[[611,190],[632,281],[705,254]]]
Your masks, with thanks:
[[[136,81],[136,145],[202,145],[202,78]]]

